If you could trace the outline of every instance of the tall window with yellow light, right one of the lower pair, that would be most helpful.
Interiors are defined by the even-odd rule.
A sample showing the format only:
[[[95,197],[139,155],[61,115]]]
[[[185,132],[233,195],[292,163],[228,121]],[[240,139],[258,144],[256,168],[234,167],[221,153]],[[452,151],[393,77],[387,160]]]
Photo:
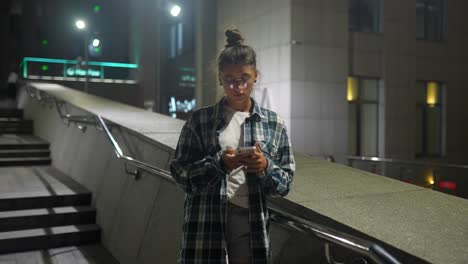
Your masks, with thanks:
[[[443,83],[419,81],[416,84],[416,156],[443,155]]]

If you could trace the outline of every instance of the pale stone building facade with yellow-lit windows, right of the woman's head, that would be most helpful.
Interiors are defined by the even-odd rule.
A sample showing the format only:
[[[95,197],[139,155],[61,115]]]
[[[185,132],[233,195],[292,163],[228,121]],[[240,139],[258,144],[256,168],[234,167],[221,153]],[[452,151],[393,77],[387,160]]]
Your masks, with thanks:
[[[462,162],[468,35],[454,0],[220,1],[299,152]],[[465,25],[465,26],[464,26]]]

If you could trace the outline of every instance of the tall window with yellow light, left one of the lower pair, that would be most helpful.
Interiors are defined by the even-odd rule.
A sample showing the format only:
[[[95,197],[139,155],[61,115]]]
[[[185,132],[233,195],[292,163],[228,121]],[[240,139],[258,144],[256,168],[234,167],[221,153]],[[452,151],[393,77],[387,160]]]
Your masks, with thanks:
[[[379,79],[348,77],[349,150],[378,156]]]

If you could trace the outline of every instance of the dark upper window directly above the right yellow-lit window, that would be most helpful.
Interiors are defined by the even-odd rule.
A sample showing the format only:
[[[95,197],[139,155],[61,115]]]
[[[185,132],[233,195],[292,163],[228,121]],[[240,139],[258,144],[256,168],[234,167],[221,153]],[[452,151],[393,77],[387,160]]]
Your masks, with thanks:
[[[446,2],[444,0],[416,1],[416,39],[440,41],[445,34]]]

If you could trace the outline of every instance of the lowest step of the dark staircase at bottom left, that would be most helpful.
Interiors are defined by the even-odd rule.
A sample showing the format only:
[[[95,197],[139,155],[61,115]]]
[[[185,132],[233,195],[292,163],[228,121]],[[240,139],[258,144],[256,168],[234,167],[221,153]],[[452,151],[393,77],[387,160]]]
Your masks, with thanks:
[[[0,254],[97,243],[98,225],[68,225],[0,232]]]

